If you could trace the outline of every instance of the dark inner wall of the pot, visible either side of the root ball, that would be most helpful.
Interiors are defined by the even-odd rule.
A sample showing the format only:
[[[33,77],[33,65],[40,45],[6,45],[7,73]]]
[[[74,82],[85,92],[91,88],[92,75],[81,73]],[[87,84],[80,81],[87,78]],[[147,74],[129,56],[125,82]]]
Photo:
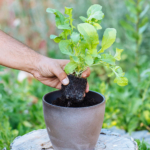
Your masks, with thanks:
[[[102,103],[105,101],[105,97],[101,95],[100,93],[89,91],[86,96],[94,98],[98,103]],[[43,98],[44,101],[46,101],[49,104],[52,104],[54,100],[61,97],[61,91],[54,91],[46,94]]]

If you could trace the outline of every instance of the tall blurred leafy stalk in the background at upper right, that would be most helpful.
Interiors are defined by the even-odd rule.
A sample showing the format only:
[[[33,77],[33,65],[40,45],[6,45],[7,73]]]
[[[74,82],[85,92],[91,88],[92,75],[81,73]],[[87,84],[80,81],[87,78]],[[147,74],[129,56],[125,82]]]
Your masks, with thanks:
[[[126,20],[122,20],[120,23],[126,30],[126,35],[129,40],[134,43],[134,64],[140,82],[140,70],[142,64],[141,57],[141,44],[143,41],[143,33],[147,29],[149,24],[148,16],[146,15],[149,10],[149,4],[146,0],[126,0],[125,1],[128,12],[126,14]],[[133,61],[132,61],[133,63]]]

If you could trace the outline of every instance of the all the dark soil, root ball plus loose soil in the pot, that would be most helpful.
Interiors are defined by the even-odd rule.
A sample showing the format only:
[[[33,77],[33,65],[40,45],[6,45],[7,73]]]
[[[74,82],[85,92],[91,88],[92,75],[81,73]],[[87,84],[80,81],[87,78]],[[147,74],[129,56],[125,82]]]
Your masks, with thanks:
[[[87,79],[68,75],[69,84],[62,85],[62,96],[52,102],[53,105],[63,107],[87,107],[98,104],[94,98],[84,97]]]

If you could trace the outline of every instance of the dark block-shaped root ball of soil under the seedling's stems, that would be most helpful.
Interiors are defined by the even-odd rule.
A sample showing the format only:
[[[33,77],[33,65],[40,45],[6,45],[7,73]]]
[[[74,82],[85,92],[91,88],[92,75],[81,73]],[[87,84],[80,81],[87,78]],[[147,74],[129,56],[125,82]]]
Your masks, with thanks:
[[[82,101],[86,89],[87,79],[78,78],[74,75],[68,75],[69,84],[62,85],[63,99],[71,99],[71,101]]]

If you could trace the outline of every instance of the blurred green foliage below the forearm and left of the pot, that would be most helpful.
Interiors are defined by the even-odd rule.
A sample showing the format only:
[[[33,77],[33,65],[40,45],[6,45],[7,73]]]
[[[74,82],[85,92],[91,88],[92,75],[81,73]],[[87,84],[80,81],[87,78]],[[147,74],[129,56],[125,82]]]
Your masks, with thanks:
[[[0,149],[9,150],[15,137],[45,128],[42,97],[53,89],[34,79],[20,83],[18,71],[1,66],[0,70]]]

